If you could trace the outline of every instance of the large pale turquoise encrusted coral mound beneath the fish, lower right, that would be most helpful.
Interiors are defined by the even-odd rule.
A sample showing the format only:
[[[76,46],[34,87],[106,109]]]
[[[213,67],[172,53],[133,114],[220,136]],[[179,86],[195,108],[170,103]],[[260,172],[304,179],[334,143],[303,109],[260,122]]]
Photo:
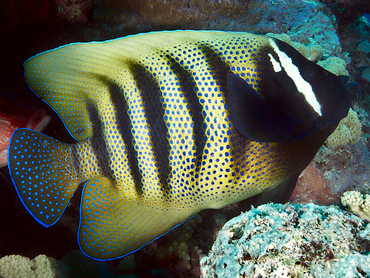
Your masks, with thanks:
[[[370,224],[336,206],[267,204],[227,222],[201,277],[364,277]]]

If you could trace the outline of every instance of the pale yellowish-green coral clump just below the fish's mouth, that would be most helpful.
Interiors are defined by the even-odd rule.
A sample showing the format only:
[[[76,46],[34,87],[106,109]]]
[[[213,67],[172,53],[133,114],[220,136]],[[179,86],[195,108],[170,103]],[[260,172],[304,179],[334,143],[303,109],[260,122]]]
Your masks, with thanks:
[[[358,142],[361,135],[361,123],[357,113],[351,108],[348,115],[343,118],[334,132],[326,139],[325,145],[331,148],[345,144],[354,145]]]

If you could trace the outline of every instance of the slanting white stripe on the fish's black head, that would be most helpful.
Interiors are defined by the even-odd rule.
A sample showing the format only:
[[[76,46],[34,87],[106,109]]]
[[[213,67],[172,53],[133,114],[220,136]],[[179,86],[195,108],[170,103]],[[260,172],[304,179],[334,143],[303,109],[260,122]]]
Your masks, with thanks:
[[[279,57],[281,66],[284,68],[287,75],[293,80],[295,86],[297,87],[298,92],[303,94],[306,101],[308,102],[309,105],[311,105],[313,110],[315,110],[317,114],[322,116],[321,105],[317,101],[315,93],[313,92],[310,83],[308,83],[306,80],[303,79],[303,77],[301,76],[299,72],[298,67],[293,64],[292,59],[289,58],[288,55],[286,55],[286,53],[284,53],[283,51],[280,51],[280,49],[278,48],[278,46],[272,39],[269,39],[269,41],[270,41],[270,45],[272,46],[272,48],[275,50],[276,54]],[[270,59],[271,57],[272,55],[270,56]],[[275,59],[274,61],[276,62]],[[274,62],[272,62],[272,64],[275,70]]]

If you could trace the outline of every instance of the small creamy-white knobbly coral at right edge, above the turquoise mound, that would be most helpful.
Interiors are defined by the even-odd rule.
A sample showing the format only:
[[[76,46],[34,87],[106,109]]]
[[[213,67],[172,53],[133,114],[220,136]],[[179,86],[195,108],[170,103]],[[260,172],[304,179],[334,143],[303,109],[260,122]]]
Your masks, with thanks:
[[[347,206],[351,212],[370,222],[370,195],[362,195],[358,191],[344,192],[342,205]]]

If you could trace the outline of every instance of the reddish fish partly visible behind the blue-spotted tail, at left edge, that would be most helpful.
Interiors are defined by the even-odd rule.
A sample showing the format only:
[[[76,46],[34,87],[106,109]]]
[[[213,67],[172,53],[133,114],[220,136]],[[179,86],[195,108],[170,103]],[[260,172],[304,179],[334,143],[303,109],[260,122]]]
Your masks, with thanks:
[[[17,128],[43,131],[51,117],[46,110],[26,104],[15,94],[0,89],[0,168],[8,165],[8,146]]]

